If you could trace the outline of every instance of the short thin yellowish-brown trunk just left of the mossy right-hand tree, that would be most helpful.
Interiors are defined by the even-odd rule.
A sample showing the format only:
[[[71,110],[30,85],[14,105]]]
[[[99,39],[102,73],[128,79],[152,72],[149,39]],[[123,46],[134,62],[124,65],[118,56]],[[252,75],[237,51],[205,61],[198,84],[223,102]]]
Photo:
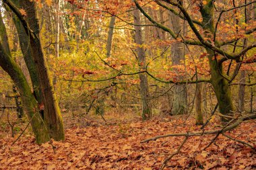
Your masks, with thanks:
[[[203,124],[203,96],[202,96],[202,83],[197,83],[195,89],[195,124]]]

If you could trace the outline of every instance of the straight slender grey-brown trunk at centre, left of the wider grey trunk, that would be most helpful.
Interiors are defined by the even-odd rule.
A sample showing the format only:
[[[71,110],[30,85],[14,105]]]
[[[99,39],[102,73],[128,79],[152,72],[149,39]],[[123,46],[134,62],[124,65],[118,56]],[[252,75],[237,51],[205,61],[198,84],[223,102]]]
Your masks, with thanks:
[[[134,24],[140,25],[140,11],[139,9],[135,9],[134,11]],[[143,44],[142,35],[141,35],[141,27],[134,26],[135,28],[135,43],[138,45]],[[137,47],[137,56],[139,60],[139,68],[140,70],[146,69],[146,54],[143,48]],[[143,120],[151,119],[152,118],[152,105],[150,102],[150,92],[148,89],[148,77],[145,73],[139,74],[140,80],[140,92],[141,92],[141,101],[142,101],[142,118]]]

